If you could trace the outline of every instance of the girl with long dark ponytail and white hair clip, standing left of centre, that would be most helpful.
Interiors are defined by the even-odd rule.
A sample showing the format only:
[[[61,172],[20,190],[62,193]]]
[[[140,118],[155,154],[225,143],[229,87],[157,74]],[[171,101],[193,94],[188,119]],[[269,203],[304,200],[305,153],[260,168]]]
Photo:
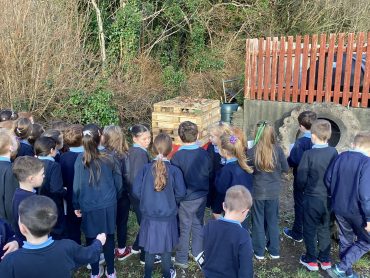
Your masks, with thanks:
[[[96,126],[85,126],[82,134],[84,152],[75,162],[73,206],[77,217],[82,217],[81,227],[87,244],[91,244],[98,234],[107,234],[103,248],[106,276],[115,278],[114,232],[117,199],[122,189],[121,170],[110,155],[98,150],[101,134]],[[91,264],[91,277],[98,278],[102,272],[98,259]]]

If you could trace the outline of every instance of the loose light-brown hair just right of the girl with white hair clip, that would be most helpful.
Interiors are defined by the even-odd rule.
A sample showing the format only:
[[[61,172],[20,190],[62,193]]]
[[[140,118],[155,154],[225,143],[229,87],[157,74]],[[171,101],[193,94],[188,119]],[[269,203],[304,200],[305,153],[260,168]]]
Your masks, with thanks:
[[[122,157],[127,154],[128,145],[122,128],[116,125],[109,125],[103,130],[103,145],[109,150],[114,151]]]

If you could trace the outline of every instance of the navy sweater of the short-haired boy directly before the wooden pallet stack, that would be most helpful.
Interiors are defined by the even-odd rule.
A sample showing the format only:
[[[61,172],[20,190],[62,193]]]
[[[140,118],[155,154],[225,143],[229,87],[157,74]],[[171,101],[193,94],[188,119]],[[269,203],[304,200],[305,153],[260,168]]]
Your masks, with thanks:
[[[206,150],[195,144],[182,146],[173,155],[171,163],[179,167],[184,175],[186,185],[184,201],[207,196],[213,166]]]

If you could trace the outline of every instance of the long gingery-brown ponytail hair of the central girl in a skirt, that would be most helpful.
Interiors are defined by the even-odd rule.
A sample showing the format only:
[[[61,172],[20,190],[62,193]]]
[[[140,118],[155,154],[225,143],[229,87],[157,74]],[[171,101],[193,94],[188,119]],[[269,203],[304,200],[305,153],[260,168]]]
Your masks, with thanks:
[[[167,183],[167,170],[163,158],[167,157],[172,151],[172,139],[168,134],[160,133],[153,141],[153,152],[157,155],[157,160],[153,165],[154,189],[162,191]],[[159,156],[159,157],[158,157]]]

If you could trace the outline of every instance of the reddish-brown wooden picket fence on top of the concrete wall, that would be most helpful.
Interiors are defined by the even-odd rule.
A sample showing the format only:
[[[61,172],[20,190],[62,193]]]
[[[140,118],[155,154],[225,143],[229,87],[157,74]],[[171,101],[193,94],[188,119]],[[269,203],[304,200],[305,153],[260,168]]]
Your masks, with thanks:
[[[370,32],[247,39],[247,99],[370,107]]]

